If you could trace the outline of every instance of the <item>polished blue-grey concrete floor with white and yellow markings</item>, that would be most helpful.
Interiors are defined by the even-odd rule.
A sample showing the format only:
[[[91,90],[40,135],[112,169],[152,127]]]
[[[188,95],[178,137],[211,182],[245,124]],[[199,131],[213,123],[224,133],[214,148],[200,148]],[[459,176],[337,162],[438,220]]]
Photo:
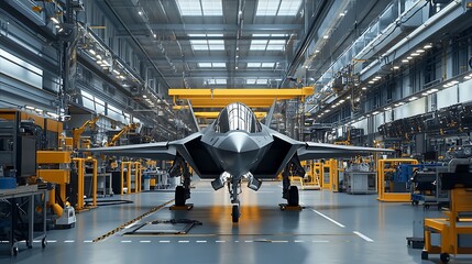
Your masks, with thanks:
[[[174,197],[152,191],[114,196],[133,204],[107,206],[77,215],[69,230],[47,232],[48,244],[40,241],[20,253],[0,254],[0,263],[440,263],[438,255],[421,261],[421,250],[407,246],[413,219],[439,216],[409,204],[378,202],[375,195],[332,194],[301,190],[303,211],[281,211],[281,183],[265,182],[260,191],[243,188],[242,216],[231,222],[227,189],[213,191],[199,182],[188,202],[190,211],[172,211],[168,206],[141,221],[190,219],[202,224],[180,235],[123,237],[120,232],[92,242],[130,220]],[[450,263],[472,263],[459,255]]]

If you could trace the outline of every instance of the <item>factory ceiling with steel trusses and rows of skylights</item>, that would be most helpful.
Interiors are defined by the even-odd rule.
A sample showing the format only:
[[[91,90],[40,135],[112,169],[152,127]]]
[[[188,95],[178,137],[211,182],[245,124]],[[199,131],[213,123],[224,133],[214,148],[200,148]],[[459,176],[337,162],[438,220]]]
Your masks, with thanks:
[[[312,86],[391,1],[105,0],[165,88]],[[349,14],[349,15],[348,15]],[[347,16],[356,23],[344,22]],[[327,23],[331,21],[332,23]],[[326,36],[326,33],[333,37]],[[312,59],[310,47],[329,46]],[[304,67],[309,61],[309,65]]]

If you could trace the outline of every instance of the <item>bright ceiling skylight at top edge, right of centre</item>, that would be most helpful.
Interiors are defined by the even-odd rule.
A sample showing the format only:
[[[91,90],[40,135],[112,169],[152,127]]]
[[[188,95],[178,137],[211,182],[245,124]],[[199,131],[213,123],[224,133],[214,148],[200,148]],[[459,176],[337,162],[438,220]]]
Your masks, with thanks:
[[[255,15],[296,15],[301,0],[259,0]]]

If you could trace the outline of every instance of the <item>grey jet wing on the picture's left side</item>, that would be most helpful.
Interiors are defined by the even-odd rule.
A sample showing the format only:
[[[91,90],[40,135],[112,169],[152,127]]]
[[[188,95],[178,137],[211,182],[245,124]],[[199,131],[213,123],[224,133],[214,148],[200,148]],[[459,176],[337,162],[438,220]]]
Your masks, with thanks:
[[[174,160],[177,153],[176,146],[175,144],[172,144],[172,142],[95,147],[80,151],[114,156],[142,157],[153,160]]]

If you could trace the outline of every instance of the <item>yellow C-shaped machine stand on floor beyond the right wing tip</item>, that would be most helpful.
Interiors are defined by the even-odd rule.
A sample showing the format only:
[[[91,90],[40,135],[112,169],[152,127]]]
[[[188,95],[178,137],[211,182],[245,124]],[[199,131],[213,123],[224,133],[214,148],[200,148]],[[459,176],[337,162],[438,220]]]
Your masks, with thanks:
[[[386,190],[386,173],[395,173],[396,167],[399,164],[418,164],[418,161],[413,158],[386,158],[378,160],[377,162],[377,200],[380,201],[392,201],[392,202],[410,202],[410,191],[405,193],[393,193],[394,182],[388,180],[388,190]]]

